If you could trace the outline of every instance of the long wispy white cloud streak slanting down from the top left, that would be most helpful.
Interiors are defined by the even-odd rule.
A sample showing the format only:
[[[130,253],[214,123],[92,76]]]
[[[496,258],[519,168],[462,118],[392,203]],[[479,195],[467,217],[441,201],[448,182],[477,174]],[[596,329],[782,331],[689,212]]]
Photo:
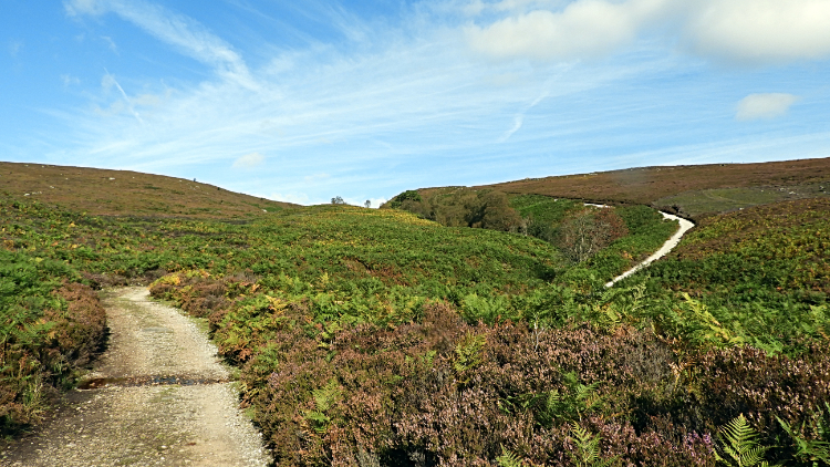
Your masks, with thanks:
[[[181,53],[212,66],[220,75],[253,86],[248,66],[234,48],[193,19],[141,0],[66,0],[71,15],[113,12]]]

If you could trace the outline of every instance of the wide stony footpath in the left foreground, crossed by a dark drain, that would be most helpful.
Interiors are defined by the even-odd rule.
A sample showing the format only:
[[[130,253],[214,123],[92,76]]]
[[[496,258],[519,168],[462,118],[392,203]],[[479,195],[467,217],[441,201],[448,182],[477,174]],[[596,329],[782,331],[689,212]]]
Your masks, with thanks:
[[[124,288],[104,304],[110,345],[89,381],[0,466],[267,466],[261,435],[204,329]]]

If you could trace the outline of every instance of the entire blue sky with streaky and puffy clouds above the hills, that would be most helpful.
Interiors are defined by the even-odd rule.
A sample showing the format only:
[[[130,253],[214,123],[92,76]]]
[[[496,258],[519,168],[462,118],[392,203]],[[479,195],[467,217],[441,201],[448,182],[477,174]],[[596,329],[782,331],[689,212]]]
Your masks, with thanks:
[[[0,159],[300,204],[830,157],[830,0],[0,0]]]

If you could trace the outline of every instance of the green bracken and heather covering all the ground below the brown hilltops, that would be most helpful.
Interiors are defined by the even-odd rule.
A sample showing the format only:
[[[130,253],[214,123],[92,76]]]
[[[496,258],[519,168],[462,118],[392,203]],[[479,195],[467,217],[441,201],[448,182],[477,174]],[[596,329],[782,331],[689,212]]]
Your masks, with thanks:
[[[408,193],[398,208],[424,207]],[[713,217],[605,289],[676,224],[645,206],[443,196],[433,212],[463,207],[456,227],[402,209],[222,220],[0,198],[3,433],[35,423],[38,394],[70,386],[100,344],[89,288],[152,282],[208,320],[279,466],[760,465],[753,448],[828,463],[826,200]],[[598,231],[602,248],[575,260],[533,225],[557,241]]]

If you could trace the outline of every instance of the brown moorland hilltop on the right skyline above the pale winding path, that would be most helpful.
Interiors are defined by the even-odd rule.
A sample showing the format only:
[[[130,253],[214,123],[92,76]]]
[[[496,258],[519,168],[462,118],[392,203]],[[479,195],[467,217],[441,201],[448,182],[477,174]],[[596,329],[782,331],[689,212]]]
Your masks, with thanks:
[[[830,196],[830,158],[641,167],[473,188],[599,204],[647,205],[701,219],[759,204]],[[428,196],[430,190],[421,191]]]

